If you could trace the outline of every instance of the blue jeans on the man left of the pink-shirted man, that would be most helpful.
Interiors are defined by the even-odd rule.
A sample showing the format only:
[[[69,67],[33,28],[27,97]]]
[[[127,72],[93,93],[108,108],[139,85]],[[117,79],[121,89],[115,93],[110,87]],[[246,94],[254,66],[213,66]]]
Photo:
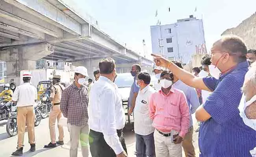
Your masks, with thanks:
[[[136,157],[155,157],[154,133],[138,135],[136,137]]]

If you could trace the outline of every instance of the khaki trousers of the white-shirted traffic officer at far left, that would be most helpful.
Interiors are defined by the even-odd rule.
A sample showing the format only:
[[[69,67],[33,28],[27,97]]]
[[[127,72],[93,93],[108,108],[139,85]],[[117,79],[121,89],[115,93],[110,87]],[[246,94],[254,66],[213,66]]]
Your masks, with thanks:
[[[23,147],[25,126],[28,129],[28,142],[35,144],[35,110],[33,106],[18,107],[17,126],[18,126],[18,148]]]

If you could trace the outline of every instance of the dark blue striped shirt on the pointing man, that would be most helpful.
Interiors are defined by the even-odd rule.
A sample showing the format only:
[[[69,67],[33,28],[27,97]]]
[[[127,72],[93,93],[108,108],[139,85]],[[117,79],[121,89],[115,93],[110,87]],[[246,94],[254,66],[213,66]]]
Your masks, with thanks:
[[[243,123],[238,110],[248,67],[248,62],[241,62],[219,80],[203,78],[213,93],[203,104],[211,118],[200,126],[200,157],[251,156],[249,151],[256,146],[256,131]]]

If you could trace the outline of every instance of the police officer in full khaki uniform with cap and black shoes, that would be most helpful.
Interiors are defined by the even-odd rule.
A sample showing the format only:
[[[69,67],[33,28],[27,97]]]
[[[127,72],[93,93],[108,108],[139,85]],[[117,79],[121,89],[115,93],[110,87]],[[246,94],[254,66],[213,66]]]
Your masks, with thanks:
[[[59,119],[62,117],[62,113],[60,110],[60,100],[61,100],[61,93],[65,89],[65,87],[61,85],[60,79],[61,79],[61,76],[59,75],[53,76],[52,83],[54,84],[54,86],[52,86],[51,95],[50,95],[50,101],[52,101],[53,106],[49,116],[49,129],[50,129],[51,142],[48,145],[45,145],[45,148],[54,148],[57,146],[56,144],[60,144],[60,145],[64,144],[63,126],[58,124],[59,141],[56,142],[56,137],[55,137],[55,121],[57,118],[59,122]]]

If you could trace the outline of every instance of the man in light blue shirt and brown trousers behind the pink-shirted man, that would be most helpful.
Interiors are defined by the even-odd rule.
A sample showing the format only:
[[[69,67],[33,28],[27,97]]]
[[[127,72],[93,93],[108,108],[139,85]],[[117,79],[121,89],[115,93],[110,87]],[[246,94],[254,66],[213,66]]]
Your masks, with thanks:
[[[176,66],[182,68],[182,64],[177,61],[172,61]],[[182,68],[183,69],[183,68]],[[199,99],[195,88],[187,86],[181,80],[179,80],[175,75],[173,76],[173,88],[180,89],[184,92],[187,98],[187,104],[189,107],[189,129],[186,136],[183,139],[182,147],[185,152],[186,157],[195,157],[195,148],[193,146],[193,119],[192,114],[195,113],[197,108],[200,106]]]

